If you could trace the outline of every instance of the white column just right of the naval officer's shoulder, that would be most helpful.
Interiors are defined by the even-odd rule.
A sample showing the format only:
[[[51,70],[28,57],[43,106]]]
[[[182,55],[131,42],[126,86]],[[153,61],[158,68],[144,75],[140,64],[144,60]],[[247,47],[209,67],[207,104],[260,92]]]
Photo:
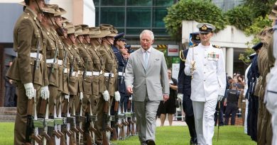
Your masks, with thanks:
[[[228,76],[233,76],[234,68],[234,48],[226,49],[226,73]]]

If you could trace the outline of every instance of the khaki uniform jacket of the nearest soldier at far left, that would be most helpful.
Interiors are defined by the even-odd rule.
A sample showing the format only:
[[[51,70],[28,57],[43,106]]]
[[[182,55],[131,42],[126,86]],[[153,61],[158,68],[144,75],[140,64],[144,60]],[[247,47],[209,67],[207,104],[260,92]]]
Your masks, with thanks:
[[[48,76],[45,72],[45,44],[40,23],[36,14],[30,8],[26,8],[16,21],[13,30],[13,50],[18,57],[13,60],[11,68],[6,76],[9,79],[21,81],[21,83],[36,83],[39,86],[48,85]],[[40,63],[33,75],[35,58],[31,58],[31,52],[37,52],[39,47]],[[33,79],[34,76],[34,79]]]

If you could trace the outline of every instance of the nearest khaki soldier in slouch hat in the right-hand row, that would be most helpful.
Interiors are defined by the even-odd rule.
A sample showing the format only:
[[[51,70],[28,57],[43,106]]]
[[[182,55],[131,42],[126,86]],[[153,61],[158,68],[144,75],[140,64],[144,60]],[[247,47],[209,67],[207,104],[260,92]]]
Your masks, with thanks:
[[[273,66],[273,29],[264,28],[261,32],[261,42],[264,43],[259,52],[258,66],[261,74],[261,89],[259,92],[259,114],[258,114],[258,144],[271,144],[273,131],[271,126],[271,114],[264,103],[264,95],[266,90],[266,76]]]

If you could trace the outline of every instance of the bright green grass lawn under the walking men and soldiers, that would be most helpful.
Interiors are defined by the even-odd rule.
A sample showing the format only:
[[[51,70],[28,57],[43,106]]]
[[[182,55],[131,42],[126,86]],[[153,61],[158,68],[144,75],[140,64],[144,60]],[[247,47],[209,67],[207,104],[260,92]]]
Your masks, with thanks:
[[[13,122],[0,123],[0,144],[13,144]],[[187,145],[190,144],[190,134],[188,127],[174,126],[174,127],[157,127],[156,129],[156,144],[166,145]],[[134,136],[124,141],[114,141],[116,145],[139,145],[139,137]],[[214,128],[214,145],[254,145],[256,142],[251,141],[250,137],[244,134],[244,127],[240,126],[223,126],[219,130],[219,141],[217,141],[217,127]]]

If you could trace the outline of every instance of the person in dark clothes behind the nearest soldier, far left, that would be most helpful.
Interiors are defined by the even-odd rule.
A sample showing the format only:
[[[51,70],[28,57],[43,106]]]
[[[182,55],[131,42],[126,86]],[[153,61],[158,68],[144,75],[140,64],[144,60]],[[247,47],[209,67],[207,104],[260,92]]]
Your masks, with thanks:
[[[11,67],[11,64],[13,64],[13,62],[9,62],[9,64],[6,66],[4,74],[6,74],[6,72],[9,70],[9,68]],[[13,80],[9,79],[5,75],[4,75],[4,79],[5,79],[5,87],[6,87],[4,106],[15,107],[16,102],[14,100],[14,97],[16,96],[16,86],[13,85]]]

